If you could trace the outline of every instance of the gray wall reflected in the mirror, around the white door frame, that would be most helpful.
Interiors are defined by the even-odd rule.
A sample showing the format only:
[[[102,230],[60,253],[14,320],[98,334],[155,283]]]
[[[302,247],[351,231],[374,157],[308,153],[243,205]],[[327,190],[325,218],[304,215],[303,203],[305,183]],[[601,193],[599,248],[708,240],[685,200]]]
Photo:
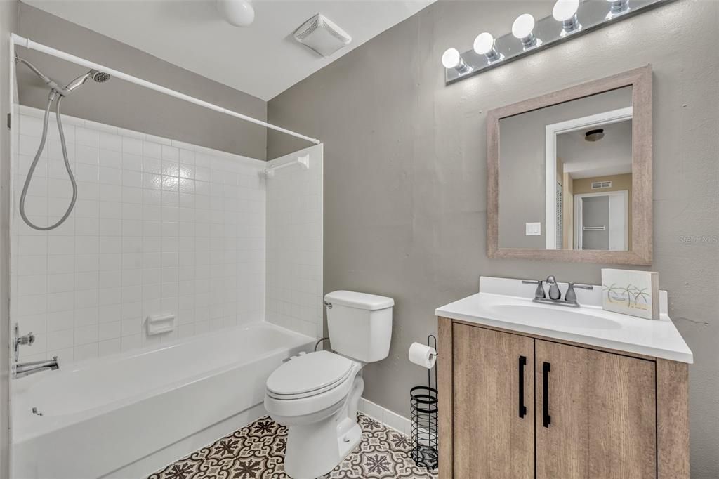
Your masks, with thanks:
[[[500,119],[500,247],[546,249],[546,125],[627,106],[631,87]],[[526,222],[540,222],[541,235],[526,236]]]

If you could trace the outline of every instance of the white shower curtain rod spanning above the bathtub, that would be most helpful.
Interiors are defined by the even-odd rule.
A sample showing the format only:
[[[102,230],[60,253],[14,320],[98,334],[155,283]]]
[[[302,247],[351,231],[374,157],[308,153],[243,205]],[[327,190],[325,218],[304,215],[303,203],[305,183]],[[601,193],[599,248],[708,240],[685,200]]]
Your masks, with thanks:
[[[196,99],[195,97],[186,95],[185,93],[180,93],[179,91],[171,90],[170,88],[165,88],[164,86],[157,85],[157,83],[152,83],[150,81],[143,80],[142,78],[137,78],[136,76],[128,75],[127,73],[123,73],[122,71],[114,70],[114,69],[106,67],[104,65],[100,65],[99,63],[91,62],[90,60],[85,60],[84,58],[80,58],[75,55],[71,55],[70,53],[65,53],[62,50],[57,50],[55,48],[48,47],[47,45],[42,45],[42,43],[33,42],[32,40],[29,40],[28,38],[25,38],[25,37],[21,37],[20,35],[17,35],[16,33],[13,33],[12,35],[10,35],[10,37],[11,37],[12,46],[19,45],[21,47],[27,48],[28,50],[37,50],[38,52],[46,53],[47,55],[52,55],[53,57],[67,60],[71,63],[75,63],[76,65],[81,65],[86,68],[91,68],[93,70],[101,70],[106,73],[109,73],[114,78],[119,78],[124,81],[129,81],[130,83],[135,83],[136,85],[144,86],[145,88],[150,88],[150,90],[159,91],[160,93],[165,93],[165,95],[174,96],[177,99],[185,100],[185,101],[188,101],[189,103],[196,104],[198,106],[203,106],[207,109],[211,109],[214,111],[219,111],[220,113],[227,114],[231,117],[244,119],[246,122],[259,124],[262,127],[274,129],[275,131],[289,134],[293,137],[301,138],[302,140],[312,142],[315,145],[319,145],[321,143],[320,140],[317,140],[316,138],[308,137],[304,134],[296,133],[289,129],[286,129],[283,127],[278,127],[274,124],[262,122],[262,120],[248,117],[247,115],[243,115],[242,113],[237,113],[237,111],[228,110],[226,108],[223,108],[222,106],[209,103],[208,101]]]

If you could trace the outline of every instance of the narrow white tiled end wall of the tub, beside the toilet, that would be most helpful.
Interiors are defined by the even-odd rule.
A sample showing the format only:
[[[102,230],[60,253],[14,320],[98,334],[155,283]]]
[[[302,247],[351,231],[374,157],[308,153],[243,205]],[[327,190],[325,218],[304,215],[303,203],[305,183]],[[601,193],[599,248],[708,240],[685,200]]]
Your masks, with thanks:
[[[322,336],[322,145],[276,158],[309,155],[267,179],[267,321]]]

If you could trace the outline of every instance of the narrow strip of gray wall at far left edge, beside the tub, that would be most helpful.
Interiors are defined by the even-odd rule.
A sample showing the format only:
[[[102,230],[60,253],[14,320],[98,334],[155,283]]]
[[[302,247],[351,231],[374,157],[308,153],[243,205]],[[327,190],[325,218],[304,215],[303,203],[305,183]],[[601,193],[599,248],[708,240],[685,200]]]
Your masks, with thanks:
[[[10,132],[5,127],[10,112],[9,40],[17,28],[17,1],[0,1],[0,479],[9,477],[9,257],[10,257]]]

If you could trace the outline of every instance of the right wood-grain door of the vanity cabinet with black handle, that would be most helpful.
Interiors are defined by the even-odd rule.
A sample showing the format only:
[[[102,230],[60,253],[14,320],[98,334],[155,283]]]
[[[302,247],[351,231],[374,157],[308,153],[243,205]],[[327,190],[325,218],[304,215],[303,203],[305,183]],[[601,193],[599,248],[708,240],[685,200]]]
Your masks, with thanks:
[[[536,477],[656,477],[655,363],[540,339],[535,355]]]

